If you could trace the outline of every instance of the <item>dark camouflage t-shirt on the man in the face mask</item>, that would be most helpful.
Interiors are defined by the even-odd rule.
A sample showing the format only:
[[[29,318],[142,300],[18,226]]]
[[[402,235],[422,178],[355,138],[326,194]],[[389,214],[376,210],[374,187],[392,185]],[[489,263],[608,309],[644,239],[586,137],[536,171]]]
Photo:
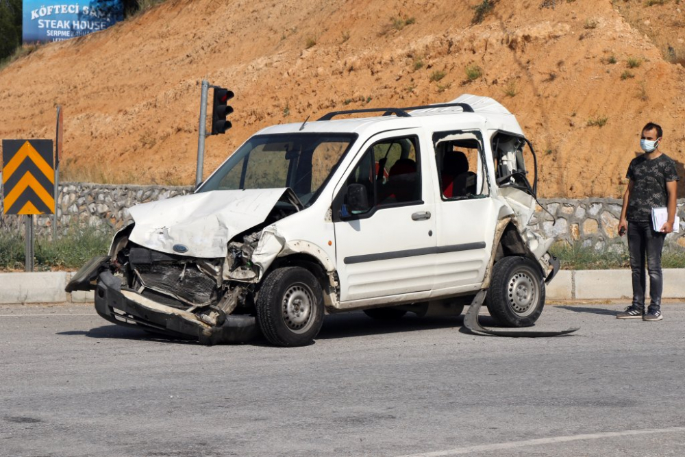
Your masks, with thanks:
[[[645,154],[634,158],[625,177],[634,182],[625,214],[628,221],[651,221],[651,208],[667,204],[666,183],[679,179],[675,162],[664,153],[651,160]]]

